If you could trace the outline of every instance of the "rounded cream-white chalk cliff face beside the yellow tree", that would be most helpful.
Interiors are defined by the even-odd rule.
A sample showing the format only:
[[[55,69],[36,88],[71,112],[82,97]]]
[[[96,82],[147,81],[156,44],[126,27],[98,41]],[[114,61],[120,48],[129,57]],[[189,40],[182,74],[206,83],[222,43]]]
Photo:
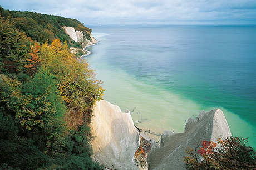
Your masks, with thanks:
[[[134,163],[134,153],[139,147],[139,132],[131,118],[117,105],[105,100],[97,101],[93,107],[91,133],[93,156],[109,169],[139,169]]]

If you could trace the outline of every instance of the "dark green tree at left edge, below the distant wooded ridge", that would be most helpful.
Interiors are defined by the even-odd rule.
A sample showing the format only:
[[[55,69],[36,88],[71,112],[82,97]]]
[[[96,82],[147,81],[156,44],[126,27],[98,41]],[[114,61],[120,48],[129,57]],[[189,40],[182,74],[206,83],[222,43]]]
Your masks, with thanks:
[[[0,17],[0,73],[25,73],[31,38],[14,28],[10,18]]]

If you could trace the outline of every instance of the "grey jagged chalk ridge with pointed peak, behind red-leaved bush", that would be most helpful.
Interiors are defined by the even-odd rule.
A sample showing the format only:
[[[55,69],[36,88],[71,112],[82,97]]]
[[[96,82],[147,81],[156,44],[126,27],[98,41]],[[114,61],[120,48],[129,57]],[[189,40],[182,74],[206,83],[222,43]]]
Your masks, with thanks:
[[[164,131],[160,147],[153,143],[147,156],[149,169],[186,169],[183,156],[186,146],[194,148],[202,140],[217,142],[230,136],[228,123],[220,109],[200,111],[196,119],[188,119],[184,133]],[[154,147],[155,146],[155,147]]]

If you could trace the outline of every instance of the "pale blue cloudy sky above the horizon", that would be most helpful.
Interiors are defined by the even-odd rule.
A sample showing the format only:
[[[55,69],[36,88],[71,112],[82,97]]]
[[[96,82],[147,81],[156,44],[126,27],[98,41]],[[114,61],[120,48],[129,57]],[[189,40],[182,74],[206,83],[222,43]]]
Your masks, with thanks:
[[[98,24],[256,24],[256,0],[1,0],[5,9]]]

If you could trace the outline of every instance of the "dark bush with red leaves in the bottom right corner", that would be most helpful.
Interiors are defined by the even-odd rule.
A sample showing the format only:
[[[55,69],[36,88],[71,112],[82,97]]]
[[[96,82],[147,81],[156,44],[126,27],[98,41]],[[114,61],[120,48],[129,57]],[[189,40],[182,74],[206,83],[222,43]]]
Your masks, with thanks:
[[[256,151],[246,145],[246,138],[219,138],[218,144],[203,141],[198,151],[188,147],[183,157],[187,169],[256,169]],[[203,157],[200,162],[199,156]]]

